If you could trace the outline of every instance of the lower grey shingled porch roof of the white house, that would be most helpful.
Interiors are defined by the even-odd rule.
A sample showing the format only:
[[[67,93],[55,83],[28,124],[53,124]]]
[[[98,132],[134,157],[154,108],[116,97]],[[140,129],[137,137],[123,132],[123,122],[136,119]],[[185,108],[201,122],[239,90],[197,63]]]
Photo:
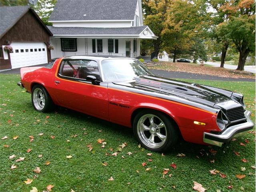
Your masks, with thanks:
[[[147,26],[98,28],[98,27],[52,27],[47,26],[54,35],[137,35]]]

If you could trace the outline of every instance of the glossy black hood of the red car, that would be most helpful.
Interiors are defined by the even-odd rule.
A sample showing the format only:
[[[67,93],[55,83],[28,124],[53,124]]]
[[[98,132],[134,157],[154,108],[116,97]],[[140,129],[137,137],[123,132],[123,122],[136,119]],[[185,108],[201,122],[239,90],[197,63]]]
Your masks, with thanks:
[[[158,96],[161,94],[163,98],[165,98],[165,96],[174,96],[175,98],[182,98],[211,107],[217,103],[232,100],[230,98],[232,92],[227,90],[156,76],[141,76],[136,77],[132,82],[124,81],[113,83],[120,86],[144,90],[144,94],[147,94],[147,92],[150,93],[150,95],[152,95],[152,93]],[[215,107],[219,108],[217,105]]]

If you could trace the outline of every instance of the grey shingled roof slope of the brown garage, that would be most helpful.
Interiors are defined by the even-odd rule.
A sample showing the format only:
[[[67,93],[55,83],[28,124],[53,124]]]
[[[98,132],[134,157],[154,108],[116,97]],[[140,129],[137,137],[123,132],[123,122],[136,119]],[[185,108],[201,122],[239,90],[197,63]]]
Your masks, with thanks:
[[[9,30],[17,20],[27,12],[30,6],[0,7],[0,36]]]

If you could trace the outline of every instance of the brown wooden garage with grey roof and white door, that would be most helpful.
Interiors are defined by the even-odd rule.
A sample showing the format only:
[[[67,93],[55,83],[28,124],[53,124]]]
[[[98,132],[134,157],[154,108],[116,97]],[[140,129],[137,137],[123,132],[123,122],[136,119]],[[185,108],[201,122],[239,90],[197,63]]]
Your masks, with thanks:
[[[52,61],[52,32],[30,6],[0,6],[0,12],[0,71]]]

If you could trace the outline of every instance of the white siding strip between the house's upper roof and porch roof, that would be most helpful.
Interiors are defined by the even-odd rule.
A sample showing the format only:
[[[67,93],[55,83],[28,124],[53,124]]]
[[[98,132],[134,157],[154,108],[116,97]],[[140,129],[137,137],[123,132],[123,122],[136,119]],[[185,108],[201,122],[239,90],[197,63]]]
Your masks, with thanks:
[[[130,21],[105,21],[105,22],[53,22],[54,27],[131,27]]]

